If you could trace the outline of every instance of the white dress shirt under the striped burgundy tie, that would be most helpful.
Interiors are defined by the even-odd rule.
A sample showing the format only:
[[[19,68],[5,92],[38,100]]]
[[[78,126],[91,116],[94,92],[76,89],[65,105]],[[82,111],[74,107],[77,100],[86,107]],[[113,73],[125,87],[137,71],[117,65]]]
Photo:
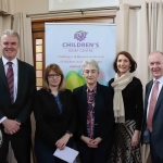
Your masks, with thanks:
[[[8,72],[8,67],[9,65],[7,64],[8,62],[12,62],[12,68],[13,68],[13,74],[14,74],[14,102],[16,100],[16,97],[17,97],[17,70],[18,70],[18,63],[17,63],[17,59],[13,59],[12,61],[8,61],[3,55],[2,55],[2,62],[3,62],[3,65],[4,65],[4,71],[5,71],[5,75],[7,75],[7,72]],[[2,123],[4,120],[7,118],[7,116],[3,116],[1,120],[0,120],[0,123]]]

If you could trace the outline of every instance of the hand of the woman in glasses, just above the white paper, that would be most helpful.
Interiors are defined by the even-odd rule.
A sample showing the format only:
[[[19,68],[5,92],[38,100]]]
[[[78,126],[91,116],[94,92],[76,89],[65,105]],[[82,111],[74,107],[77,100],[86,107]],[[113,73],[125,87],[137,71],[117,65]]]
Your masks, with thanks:
[[[61,139],[59,139],[57,142],[55,142],[55,146],[60,149],[60,150],[63,150],[67,143],[67,141],[70,140],[70,134],[65,134]]]

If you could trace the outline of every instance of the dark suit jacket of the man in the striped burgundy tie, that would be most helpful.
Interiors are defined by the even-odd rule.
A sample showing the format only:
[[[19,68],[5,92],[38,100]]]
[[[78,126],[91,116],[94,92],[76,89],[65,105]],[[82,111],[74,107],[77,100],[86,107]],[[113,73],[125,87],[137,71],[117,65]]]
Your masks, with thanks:
[[[17,97],[15,102],[11,104],[4,66],[0,58],[0,118],[3,116],[10,120],[17,118],[22,125],[16,134],[21,133],[22,128],[27,129],[30,134],[30,113],[33,111],[32,103],[36,91],[36,76],[32,65],[20,60],[17,60]],[[1,127],[3,128],[2,125]]]

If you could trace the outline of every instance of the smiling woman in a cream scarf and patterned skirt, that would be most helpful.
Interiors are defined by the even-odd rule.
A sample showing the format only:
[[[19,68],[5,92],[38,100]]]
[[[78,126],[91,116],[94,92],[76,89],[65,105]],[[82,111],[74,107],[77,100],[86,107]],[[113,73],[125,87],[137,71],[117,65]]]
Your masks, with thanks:
[[[115,77],[109,82],[114,88],[113,109],[115,139],[111,163],[141,163],[139,135],[142,121],[142,85],[131,74],[137,63],[126,51],[121,51],[113,63]]]

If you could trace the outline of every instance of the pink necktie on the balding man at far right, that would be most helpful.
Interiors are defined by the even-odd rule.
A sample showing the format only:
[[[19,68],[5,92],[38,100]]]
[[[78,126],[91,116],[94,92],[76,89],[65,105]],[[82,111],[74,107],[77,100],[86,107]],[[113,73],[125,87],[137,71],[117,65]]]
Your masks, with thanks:
[[[152,131],[152,117],[156,104],[158,92],[159,92],[159,82],[155,79],[153,90],[151,93],[148,118],[147,118],[147,127],[149,128],[150,131]]]

